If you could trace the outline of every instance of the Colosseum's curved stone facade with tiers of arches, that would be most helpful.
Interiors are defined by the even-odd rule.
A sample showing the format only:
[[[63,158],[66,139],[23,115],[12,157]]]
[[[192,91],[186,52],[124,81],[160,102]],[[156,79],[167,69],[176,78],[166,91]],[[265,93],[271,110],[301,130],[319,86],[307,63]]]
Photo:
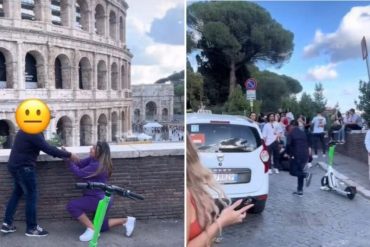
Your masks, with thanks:
[[[45,101],[44,132],[65,146],[131,132],[131,59],[124,0],[0,0],[0,136],[12,145],[17,105]],[[1,143],[0,143],[1,144]]]

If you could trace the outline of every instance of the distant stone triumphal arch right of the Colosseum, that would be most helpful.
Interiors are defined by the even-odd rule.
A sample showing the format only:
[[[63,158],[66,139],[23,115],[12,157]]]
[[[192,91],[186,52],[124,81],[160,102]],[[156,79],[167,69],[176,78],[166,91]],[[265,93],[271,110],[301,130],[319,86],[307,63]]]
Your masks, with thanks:
[[[174,88],[172,84],[132,86],[133,123],[173,120]]]

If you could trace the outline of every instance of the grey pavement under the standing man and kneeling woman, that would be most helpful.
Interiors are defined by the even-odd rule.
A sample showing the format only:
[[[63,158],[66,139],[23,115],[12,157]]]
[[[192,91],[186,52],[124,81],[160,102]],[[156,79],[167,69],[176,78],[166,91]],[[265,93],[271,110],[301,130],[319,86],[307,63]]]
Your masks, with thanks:
[[[78,237],[84,228],[76,221],[40,221],[40,226],[49,231],[42,238],[26,237],[25,223],[17,221],[17,232],[0,233],[1,247],[87,247]],[[123,227],[117,227],[101,234],[101,247],[172,247],[184,245],[183,220],[138,220],[134,233],[126,237]]]

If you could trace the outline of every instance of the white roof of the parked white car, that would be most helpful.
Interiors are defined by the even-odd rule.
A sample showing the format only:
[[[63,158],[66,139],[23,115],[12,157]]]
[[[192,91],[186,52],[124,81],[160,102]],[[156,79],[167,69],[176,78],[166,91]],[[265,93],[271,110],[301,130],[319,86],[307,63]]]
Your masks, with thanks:
[[[244,116],[204,113],[189,113],[186,115],[187,124],[210,123],[211,121],[228,121],[230,124],[253,126],[258,128],[255,122]]]

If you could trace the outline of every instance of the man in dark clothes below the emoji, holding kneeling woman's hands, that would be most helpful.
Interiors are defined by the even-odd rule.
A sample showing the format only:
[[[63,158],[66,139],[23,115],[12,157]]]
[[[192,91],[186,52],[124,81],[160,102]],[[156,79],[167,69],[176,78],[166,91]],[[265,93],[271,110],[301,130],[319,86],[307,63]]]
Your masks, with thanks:
[[[16,227],[13,226],[13,216],[17,210],[18,201],[24,194],[26,200],[26,236],[40,237],[48,235],[48,232],[37,224],[36,219],[37,186],[35,166],[40,151],[58,158],[78,160],[75,154],[50,146],[45,141],[42,133],[28,134],[23,130],[19,130],[8,161],[8,170],[13,178],[14,189],[5,211],[4,223],[1,227],[1,232],[3,233],[16,231]]]

